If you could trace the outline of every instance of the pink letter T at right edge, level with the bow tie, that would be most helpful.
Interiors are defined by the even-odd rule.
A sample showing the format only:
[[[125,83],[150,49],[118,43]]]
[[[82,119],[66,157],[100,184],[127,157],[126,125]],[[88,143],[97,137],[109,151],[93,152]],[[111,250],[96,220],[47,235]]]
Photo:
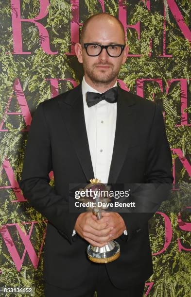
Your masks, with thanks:
[[[168,94],[169,88],[172,84],[172,82],[180,82],[180,104],[181,104],[181,124],[176,125],[176,127],[179,126],[191,126],[191,124],[188,124],[188,114],[184,111],[188,107],[187,105],[187,79],[173,79],[168,82],[168,86],[166,89],[166,93]]]

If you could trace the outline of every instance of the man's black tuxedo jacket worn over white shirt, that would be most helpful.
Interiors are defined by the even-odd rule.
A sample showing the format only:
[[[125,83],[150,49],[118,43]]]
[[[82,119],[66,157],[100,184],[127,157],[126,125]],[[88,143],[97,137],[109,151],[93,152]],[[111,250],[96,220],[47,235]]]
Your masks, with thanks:
[[[171,183],[172,158],[158,106],[118,86],[117,123],[108,183]],[[54,188],[49,185],[53,170]],[[48,219],[44,279],[71,289],[91,269],[87,241],[72,231],[79,214],[69,212],[69,183],[94,178],[83,109],[82,88],[40,103],[35,111],[19,185],[24,197]],[[97,177],[99,178],[99,177]],[[121,214],[128,236],[116,240],[121,256],[106,264],[119,288],[146,281],[153,273],[148,219],[152,214]],[[101,265],[101,264],[97,264]]]

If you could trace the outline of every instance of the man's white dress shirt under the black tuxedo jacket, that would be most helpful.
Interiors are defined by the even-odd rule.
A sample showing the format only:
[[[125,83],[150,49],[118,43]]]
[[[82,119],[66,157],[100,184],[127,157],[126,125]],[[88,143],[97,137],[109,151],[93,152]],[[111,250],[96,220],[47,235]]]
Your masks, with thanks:
[[[113,87],[114,86],[117,86],[117,81]],[[94,178],[97,178],[103,183],[107,183],[115,139],[117,102],[109,103],[102,100],[99,103],[88,107],[87,92],[101,94],[101,92],[87,84],[85,77],[83,77],[82,96],[84,116]],[[75,233],[76,231],[74,230],[72,235]],[[126,230],[124,231],[124,234],[127,235]]]

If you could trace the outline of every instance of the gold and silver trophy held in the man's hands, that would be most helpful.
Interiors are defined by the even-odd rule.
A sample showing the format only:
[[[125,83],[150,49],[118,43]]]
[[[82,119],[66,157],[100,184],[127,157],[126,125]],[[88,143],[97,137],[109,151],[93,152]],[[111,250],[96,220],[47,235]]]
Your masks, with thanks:
[[[90,183],[85,187],[85,189],[80,189],[83,191],[86,190],[92,190],[96,191],[97,193],[103,193],[104,195],[96,194],[96,197],[94,197],[94,203],[92,207],[88,207],[87,210],[91,210],[94,215],[96,215],[97,219],[100,220],[102,218],[102,210],[107,209],[108,207],[105,206],[108,201],[110,201],[110,198],[108,195],[105,195],[105,193],[108,193],[108,187],[106,187],[103,183],[99,182],[98,179],[92,179],[90,180]],[[80,198],[81,201],[92,200],[89,198]],[[104,206],[99,206],[100,204]],[[120,256],[120,245],[117,241],[111,240],[106,244],[104,247],[94,247],[92,245],[89,245],[87,247],[87,256],[90,261],[95,263],[109,263],[119,258]]]

